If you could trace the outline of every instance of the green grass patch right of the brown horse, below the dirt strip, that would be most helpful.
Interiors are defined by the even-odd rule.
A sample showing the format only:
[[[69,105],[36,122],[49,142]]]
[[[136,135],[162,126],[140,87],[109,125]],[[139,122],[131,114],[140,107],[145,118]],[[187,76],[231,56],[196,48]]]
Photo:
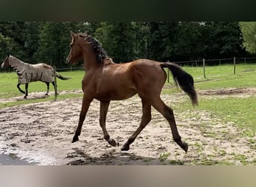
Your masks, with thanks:
[[[256,96],[214,97],[200,99],[199,105],[192,108],[189,98],[179,105],[172,105],[176,113],[183,111],[208,111],[213,118],[220,118],[222,122],[232,122],[242,129],[241,135],[252,138],[256,135]],[[214,136],[214,135],[213,135]]]

